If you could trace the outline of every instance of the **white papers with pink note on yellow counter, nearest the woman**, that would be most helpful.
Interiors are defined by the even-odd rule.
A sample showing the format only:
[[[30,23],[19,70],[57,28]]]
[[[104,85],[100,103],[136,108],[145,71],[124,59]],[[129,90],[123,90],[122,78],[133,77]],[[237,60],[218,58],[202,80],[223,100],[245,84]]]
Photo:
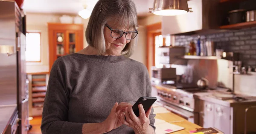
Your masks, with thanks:
[[[169,134],[185,128],[166,122],[165,120],[155,119],[156,134]]]

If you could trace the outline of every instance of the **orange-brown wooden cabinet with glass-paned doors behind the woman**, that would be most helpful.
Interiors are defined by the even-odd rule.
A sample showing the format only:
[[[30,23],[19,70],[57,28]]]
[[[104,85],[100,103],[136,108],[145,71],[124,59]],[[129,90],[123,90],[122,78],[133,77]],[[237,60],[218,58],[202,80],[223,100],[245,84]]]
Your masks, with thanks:
[[[83,49],[83,24],[48,23],[49,70],[56,59]]]

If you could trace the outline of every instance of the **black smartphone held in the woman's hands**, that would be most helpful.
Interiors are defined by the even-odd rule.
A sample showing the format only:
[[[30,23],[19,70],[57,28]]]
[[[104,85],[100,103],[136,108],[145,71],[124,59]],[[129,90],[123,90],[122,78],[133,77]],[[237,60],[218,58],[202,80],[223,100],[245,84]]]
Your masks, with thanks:
[[[141,98],[139,98],[137,100],[137,102],[132,106],[134,114],[137,117],[140,116],[140,111],[139,111],[139,108],[138,108],[139,104],[142,104],[145,112],[147,112],[148,109],[150,108],[150,106],[152,106],[156,100],[157,100],[156,97],[141,97]]]

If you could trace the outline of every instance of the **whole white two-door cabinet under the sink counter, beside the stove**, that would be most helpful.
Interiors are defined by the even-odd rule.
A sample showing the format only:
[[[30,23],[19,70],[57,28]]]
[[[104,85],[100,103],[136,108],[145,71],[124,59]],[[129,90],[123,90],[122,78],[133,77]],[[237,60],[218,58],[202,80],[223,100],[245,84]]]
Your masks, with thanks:
[[[200,126],[215,127],[224,134],[231,134],[231,108],[207,101],[202,101],[201,104],[204,104],[204,107],[200,112]]]

